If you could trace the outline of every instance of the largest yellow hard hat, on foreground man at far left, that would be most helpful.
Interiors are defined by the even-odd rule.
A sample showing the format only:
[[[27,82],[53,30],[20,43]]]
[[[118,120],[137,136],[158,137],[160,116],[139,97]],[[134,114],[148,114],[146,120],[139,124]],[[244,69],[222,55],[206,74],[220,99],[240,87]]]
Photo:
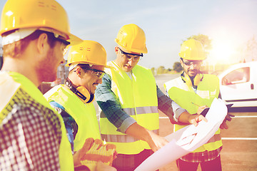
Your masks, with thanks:
[[[8,0],[1,14],[0,35],[19,28],[47,28],[66,38],[71,44],[82,40],[70,33],[64,8],[54,0]]]

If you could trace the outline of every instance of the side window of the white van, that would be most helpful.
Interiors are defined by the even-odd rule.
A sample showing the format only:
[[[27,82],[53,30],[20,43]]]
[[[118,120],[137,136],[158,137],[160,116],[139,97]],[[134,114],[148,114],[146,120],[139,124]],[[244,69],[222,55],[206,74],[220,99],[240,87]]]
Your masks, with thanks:
[[[231,85],[236,83],[246,83],[250,80],[250,68],[238,68],[231,71],[222,79],[222,85]]]

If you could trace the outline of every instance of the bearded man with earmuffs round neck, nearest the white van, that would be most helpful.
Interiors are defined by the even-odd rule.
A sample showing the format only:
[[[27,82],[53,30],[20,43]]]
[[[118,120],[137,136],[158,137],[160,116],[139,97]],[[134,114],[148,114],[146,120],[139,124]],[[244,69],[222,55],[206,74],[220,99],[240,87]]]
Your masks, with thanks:
[[[179,56],[181,56],[180,62],[183,73],[180,77],[165,83],[166,93],[191,114],[196,113],[199,105],[210,107],[213,99],[220,96],[219,82],[218,77],[202,74],[200,71],[201,63],[206,58],[201,42],[194,39],[184,41]],[[233,115],[228,114],[226,116],[221,124],[221,129],[228,129],[226,120],[230,121],[231,116]],[[180,115],[176,115],[176,118],[180,118]],[[186,125],[176,124],[174,130],[177,131],[184,126]],[[198,165],[201,165],[203,171],[222,170],[221,150],[221,135],[220,130],[218,130],[206,144],[176,160],[178,170],[196,171]]]

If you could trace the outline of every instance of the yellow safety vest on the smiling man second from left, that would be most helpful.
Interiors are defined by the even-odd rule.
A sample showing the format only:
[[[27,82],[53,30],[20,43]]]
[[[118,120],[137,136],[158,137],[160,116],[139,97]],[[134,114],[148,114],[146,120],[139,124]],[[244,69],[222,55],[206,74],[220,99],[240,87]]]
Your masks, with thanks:
[[[101,139],[99,123],[93,103],[84,104],[69,88],[64,85],[55,86],[44,94],[49,102],[55,101],[62,105],[66,112],[78,124],[78,133],[74,139],[74,151],[83,147],[86,138]]]

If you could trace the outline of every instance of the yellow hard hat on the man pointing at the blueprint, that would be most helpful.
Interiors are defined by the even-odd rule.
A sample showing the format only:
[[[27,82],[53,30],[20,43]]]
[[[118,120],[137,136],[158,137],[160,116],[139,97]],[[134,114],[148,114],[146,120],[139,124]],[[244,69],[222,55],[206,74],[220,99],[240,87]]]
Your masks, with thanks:
[[[146,35],[136,24],[127,24],[121,27],[115,41],[127,51],[147,53]]]

